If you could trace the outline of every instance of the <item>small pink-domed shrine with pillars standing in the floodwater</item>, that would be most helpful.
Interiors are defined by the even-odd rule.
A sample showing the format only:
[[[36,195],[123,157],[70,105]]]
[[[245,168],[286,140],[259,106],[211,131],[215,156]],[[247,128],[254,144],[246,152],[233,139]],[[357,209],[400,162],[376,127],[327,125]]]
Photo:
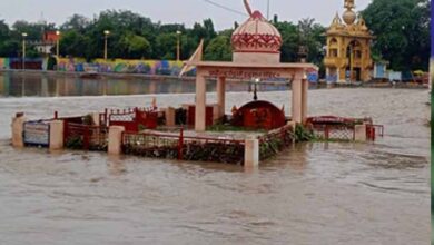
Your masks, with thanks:
[[[217,118],[225,116],[225,92],[227,79],[247,81],[286,79],[292,84],[292,115],[290,120],[302,124],[307,118],[308,81],[306,72],[318,70],[312,63],[283,63],[280,62],[282,36],[279,31],[259,11],[251,11],[248,1],[244,1],[249,18],[233,33],[233,61],[203,61],[201,56],[194,56],[187,66],[196,67],[196,102],[194,111],[194,127],[196,131],[205,131],[207,124],[206,80],[217,80]],[[199,47],[200,49],[201,47]],[[201,51],[199,50],[198,53]],[[246,108],[249,108],[246,112]],[[279,112],[280,111],[280,112]],[[255,116],[255,115],[256,116]],[[259,115],[260,114],[260,115]],[[246,105],[239,111],[234,111],[239,126],[264,126],[263,128],[277,128],[285,124],[284,111],[270,102],[262,101]],[[257,117],[263,122],[253,122]],[[249,119],[250,118],[250,119]],[[274,120],[282,119],[282,124]],[[208,120],[209,121],[209,120]],[[245,124],[243,124],[243,121]]]

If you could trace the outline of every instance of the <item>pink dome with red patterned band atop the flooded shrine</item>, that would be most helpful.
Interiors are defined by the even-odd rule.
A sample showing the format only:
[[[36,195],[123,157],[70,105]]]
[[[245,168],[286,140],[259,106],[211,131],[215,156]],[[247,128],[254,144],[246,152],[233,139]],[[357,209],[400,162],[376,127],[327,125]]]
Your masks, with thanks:
[[[255,11],[234,31],[231,45],[234,52],[279,53],[282,36],[259,11]]]

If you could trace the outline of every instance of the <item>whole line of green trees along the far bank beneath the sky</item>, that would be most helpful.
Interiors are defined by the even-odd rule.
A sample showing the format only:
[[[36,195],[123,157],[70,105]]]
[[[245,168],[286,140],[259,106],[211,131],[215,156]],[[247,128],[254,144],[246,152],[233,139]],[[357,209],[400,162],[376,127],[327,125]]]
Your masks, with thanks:
[[[427,70],[430,57],[430,0],[374,0],[362,14],[376,39],[373,45],[375,61],[389,61],[392,69]],[[332,21],[331,16],[331,21]],[[323,68],[325,31],[327,27],[306,18],[298,22],[282,21],[275,16],[272,22],[283,37],[282,60],[299,60],[300,47],[307,50],[307,61]],[[176,59],[177,40],[180,40],[183,60],[205,40],[206,60],[230,60],[233,27],[216,31],[211,19],[188,28],[181,23],[154,22],[128,10],[106,10],[93,19],[73,14],[63,24],[17,21],[8,26],[0,20],[0,57],[19,57],[21,33],[29,40],[27,55],[40,56],[32,41],[40,40],[43,31],[61,32],[60,56],[101,58],[105,30],[109,30],[108,57],[125,59]],[[178,33],[179,35],[178,35]],[[323,69],[324,70],[324,69]]]

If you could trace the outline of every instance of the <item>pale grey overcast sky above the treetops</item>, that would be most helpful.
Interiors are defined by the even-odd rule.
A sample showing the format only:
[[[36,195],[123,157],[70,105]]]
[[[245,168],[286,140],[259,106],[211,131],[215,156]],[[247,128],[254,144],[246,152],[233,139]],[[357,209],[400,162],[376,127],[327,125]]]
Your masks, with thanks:
[[[211,0],[230,9],[245,12],[241,0]],[[339,11],[344,0],[269,0],[270,16],[277,13],[280,20],[298,21],[302,18],[315,18],[328,24]],[[372,0],[356,0],[357,10],[363,10]],[[250,0],[253,9],[267,12],[267,0]],[[46,20],[57,24],[68,17],[79,13],[89,18],[106,9],[124,9],[138,12],[164,23],[185,23],[191,27],[211,18],[217,30],[230,28],[234,21],[243,22],[246,17],[220,9],[206,0],[0,0],[0,19],[9,24],[17,20]]]

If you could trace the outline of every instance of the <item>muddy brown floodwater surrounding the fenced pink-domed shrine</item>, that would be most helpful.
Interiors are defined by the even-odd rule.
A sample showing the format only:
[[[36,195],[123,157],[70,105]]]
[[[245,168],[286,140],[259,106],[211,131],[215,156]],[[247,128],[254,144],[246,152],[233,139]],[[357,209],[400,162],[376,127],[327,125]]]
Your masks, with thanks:
[[[49,92],[42,95],[26,84],[18,95],[16,81],[6,95],[2,79],[0,244],[430,243],[426,90],[310,90],[309,115],[369,116],[385,125],[385,137],[374,144],[297,145],[249,174],[230,165],[9,146],[16,111],[30,119],[51,117],[55,110],[82,115],[148,106],[154,97],[160,107],[178,106],[194,101],[193,84],[152,90],[160,95],[52,97],[53,85],[47,84]],[[63,82],[63,91],[80,84]],[[130,86],[118,82],[114,86]],[[187,94],[165,94],[179,91]],[[227,111],[251,97],[229,92]],[[259,98],[285,105],[289,112],[289,91],[259,92]],[[214,102],[216,95],[207,99]]]

